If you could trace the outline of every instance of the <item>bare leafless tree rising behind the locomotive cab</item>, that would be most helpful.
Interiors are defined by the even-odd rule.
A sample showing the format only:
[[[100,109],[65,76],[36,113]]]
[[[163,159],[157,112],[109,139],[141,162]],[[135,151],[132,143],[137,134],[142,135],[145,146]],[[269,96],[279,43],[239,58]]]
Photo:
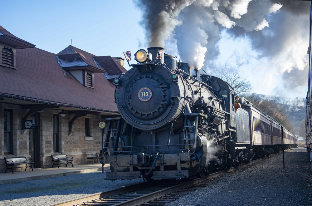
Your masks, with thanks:
[[[253,88],[250,81],[247,81],[247,78],[241,76],[238,69],[234,69],[232,66],[227,66],[227,64],[214,69],[212,72],[215,76],[231,85],[236,94],[249,92]]]

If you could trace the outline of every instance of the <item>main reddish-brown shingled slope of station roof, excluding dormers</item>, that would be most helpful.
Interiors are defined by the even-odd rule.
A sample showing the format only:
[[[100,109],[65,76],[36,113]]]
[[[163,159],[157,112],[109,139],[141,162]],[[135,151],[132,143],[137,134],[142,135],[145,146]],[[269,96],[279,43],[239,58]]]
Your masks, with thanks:
[[[75,50],[90,62],[90,53]],[[69,71],[63,70],[56,54],[38,48],[20,49],[16,61],[16,70],[0,66],[0,93],[117,111],[115,86],[101,73],[94,74],[92,89],[84,87]]]

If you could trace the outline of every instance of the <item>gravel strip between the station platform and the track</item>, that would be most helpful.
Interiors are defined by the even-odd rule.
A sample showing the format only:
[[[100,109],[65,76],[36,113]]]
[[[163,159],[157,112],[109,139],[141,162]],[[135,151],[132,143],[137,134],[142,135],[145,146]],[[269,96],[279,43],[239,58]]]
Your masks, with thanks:
[[[2,184],[0,206],[48,205],[143,182],[143,179],[110,181],[105,177],[106,172],[100,171]]]

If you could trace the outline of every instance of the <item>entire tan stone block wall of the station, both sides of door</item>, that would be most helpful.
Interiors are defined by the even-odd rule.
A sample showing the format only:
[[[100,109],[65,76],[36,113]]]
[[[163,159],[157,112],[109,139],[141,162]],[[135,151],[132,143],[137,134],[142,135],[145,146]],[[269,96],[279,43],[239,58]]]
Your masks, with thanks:
[[[6,169],[4,157],[29,155],[28,130],[22,130],[22,118],[29,110],[22,110],[21,106],[13,105],[13,154],[4,154],[4,116],[3,105],[0,103],[0,172]],[[6,106],[8,104],[5,104]],[[59,110],[44,109],[40,112],[40,160],[41,168],[52,166],[51,154],[67,154],[72,156],[74,164],[86,164],[85,151],[95,150],[97,153],[102,149],[101,129],[99,122],[103,121],[101,115],[87,115],[79,117],[74,121],[72,133],[69,133],[69,121],[74,115],[59,115],[59,151],[53,151],[53,114],[57,115]],[[85,136],[85,118],[89,118],[90,136]],[[104,119],[105,120],[105,119]],[[106,133],[107,127],[105,128]],[[104,134],[105,138],[105,134]],[[66,164],[60,164],[65,166]],[[23,168],[22,168],[23,169]],[[15,169],[14,171],[17,171]]]

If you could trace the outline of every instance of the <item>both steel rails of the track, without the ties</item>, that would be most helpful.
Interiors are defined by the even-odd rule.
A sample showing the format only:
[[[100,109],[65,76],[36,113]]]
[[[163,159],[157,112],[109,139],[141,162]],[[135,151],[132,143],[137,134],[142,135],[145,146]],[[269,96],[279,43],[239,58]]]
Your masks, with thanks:
[[[277,154],[282,154],[282,153],[277,153]],[[275,155],[275,154],[271,154],[270,156],[272,156],[272,155]],[[255,160],[252,160],[252,161],[250,161],[248,163],[244,163],[244,164],[232,167],[230,169],[221,170],[221,171],[209,174],[209,175],[207,175],[205,177],[202,177],[202,178],[198,178],[198,179],[194,179],[194,180],[191,180],[191,181],[183,182],[183,183],[180,183],[180,184],[177,184],[177,185],[165,188],[165,189],[161,189],[161,190],[158,190],[158,191],[155,191],[155,192],[152,192],[152,193],[149,193],[149,194],[146,194],[146,195],[134,198],[134,199],[130,199],[130,200],[124,201],[122,203],[117,203],[117,204],[114,204],[114,205],[111,205],[111,206],[134,206],[134,205],[144,204],[144,203],[149,202],[151,200],[154,200],[154,199],[160,198],[162,196],[165,196],[166,194],[170,194],[172,192],[184,189],[184,188],[186,188],[188,186],[200,183],[200,182],[205,181],[207,179],[210,179],[212,177],[217,177],[217,176],[220,176],[222,174],[226,174],[228,172],[240,169],[240,168],[245,167],[247,165],[254,164],[256,162],[262,161],[262,160],[264,160],[264,159],[266,159],[266,158],[268,158],[270,156],[267,156],[267,157],[264,157],[264,158],[255,159]],[[76,199],[71,199],[71,200],[67,200],[67,201],[63,201],[63,202],[59,202],[59,203],[55,203],[55,204],[49,204],[49,205],[46,205],[46,206],[73,206],[73,205],[77,205],[77,204],[81,205],[81,204],[83,204],[85,202],[89,202],[90,203],[90,201],[92,201],[94,199],[105,198],[105,197],[109,197],[109,196],[112,196],[112,195],[117,195],[117,194],[129,192],[129,191],[137,190],[137,189],[140,189],[140,188],[144,188],[144,187],[147,187],[147,186],[151,185],[152,183],[153,182],[143,182],[143,183],[139,183],[139,184],[133,184],[133,185],[129,185],[129,186],[126,186],[126,187],[123,187],[123,188],[120,188],[120,189],[110,190],[110,191],[102,192],[102,193],[95,193],[95,194],[87,195],[87,196],[76,198]]]

